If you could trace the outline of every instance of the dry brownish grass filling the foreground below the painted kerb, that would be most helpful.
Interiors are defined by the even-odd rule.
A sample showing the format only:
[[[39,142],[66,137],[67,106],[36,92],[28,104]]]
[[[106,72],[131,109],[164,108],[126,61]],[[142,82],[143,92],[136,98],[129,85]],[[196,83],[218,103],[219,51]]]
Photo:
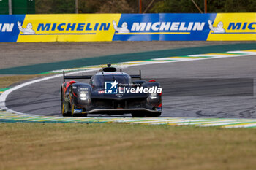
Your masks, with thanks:
[[[255,169],[255,129],[0,123],[0,169]]]

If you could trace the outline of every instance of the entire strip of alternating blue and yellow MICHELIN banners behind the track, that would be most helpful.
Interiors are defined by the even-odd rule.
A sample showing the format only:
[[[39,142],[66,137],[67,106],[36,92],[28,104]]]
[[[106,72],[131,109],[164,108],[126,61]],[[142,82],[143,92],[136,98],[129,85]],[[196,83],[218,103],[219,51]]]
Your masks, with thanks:
[[[248,40],[256,13],[0,15],[0,42]]]

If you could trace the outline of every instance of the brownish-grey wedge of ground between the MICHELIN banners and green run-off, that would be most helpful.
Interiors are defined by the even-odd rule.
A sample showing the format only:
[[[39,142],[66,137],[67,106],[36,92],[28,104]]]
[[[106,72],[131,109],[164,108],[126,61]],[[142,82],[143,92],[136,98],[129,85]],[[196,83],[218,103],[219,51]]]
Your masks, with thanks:
[[[24,42],[0,43],[0,70],[103,55],[254,42]],[[0,72],[1,74],[1,72]]]

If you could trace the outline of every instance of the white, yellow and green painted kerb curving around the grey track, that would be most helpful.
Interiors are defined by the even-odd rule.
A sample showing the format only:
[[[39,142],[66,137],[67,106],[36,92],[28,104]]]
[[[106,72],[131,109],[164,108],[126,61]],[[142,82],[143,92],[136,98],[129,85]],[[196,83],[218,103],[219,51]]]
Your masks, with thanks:
[[[226,55],[225,55],[226,54]],[[180,61],[194,61],[210,58],[225,58],[225,57],[238,57],[256,54],[256,50],[239,50],[229,51],[225,53],[210,53],[199,55],[179,56],[176,58],[153,58],[147,61],[129,61],[125,62],[127,66],[154,64],[162,62],[180,62]],[[174,60],[173,60],[174,59]],[[122,63],[124,64],[124,63]],[[98,66],[96,66],[98,67]],[[86,71],[70,72],[69,74],[79,74],[82,72],[91,72],[95,70],[91,67]],[[75,71],[75,70],[74,70]],[[49,117],[38,115],[27,115],[25,113],[17,112],[6,107],[5,100],[12,91],[22,88],[26,85],[31,85],[36,82],[54,79],[61,77],[62,74],[56,74],[50,77],[44,77],[38,80],[32,80],[23,84],[10,88],[0,96],[0,122],[48,122],[48,123],[143,123],[147,125],[198,125],[198,126],[220,126],[223,128],[256,128],[255,119],[222,119],[222,118],[177,118],[177,117],[156,117],[156,118],[129,118],[129,117]]]

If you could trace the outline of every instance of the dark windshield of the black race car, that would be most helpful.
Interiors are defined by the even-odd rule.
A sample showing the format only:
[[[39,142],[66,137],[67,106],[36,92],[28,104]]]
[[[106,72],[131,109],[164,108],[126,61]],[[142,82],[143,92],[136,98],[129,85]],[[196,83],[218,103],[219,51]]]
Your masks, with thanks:
[[[118,82],[118,85],[129,85],[132,80],[129,75],[96,75],[94,77],[94,88],[105,88],[105,82]]]

